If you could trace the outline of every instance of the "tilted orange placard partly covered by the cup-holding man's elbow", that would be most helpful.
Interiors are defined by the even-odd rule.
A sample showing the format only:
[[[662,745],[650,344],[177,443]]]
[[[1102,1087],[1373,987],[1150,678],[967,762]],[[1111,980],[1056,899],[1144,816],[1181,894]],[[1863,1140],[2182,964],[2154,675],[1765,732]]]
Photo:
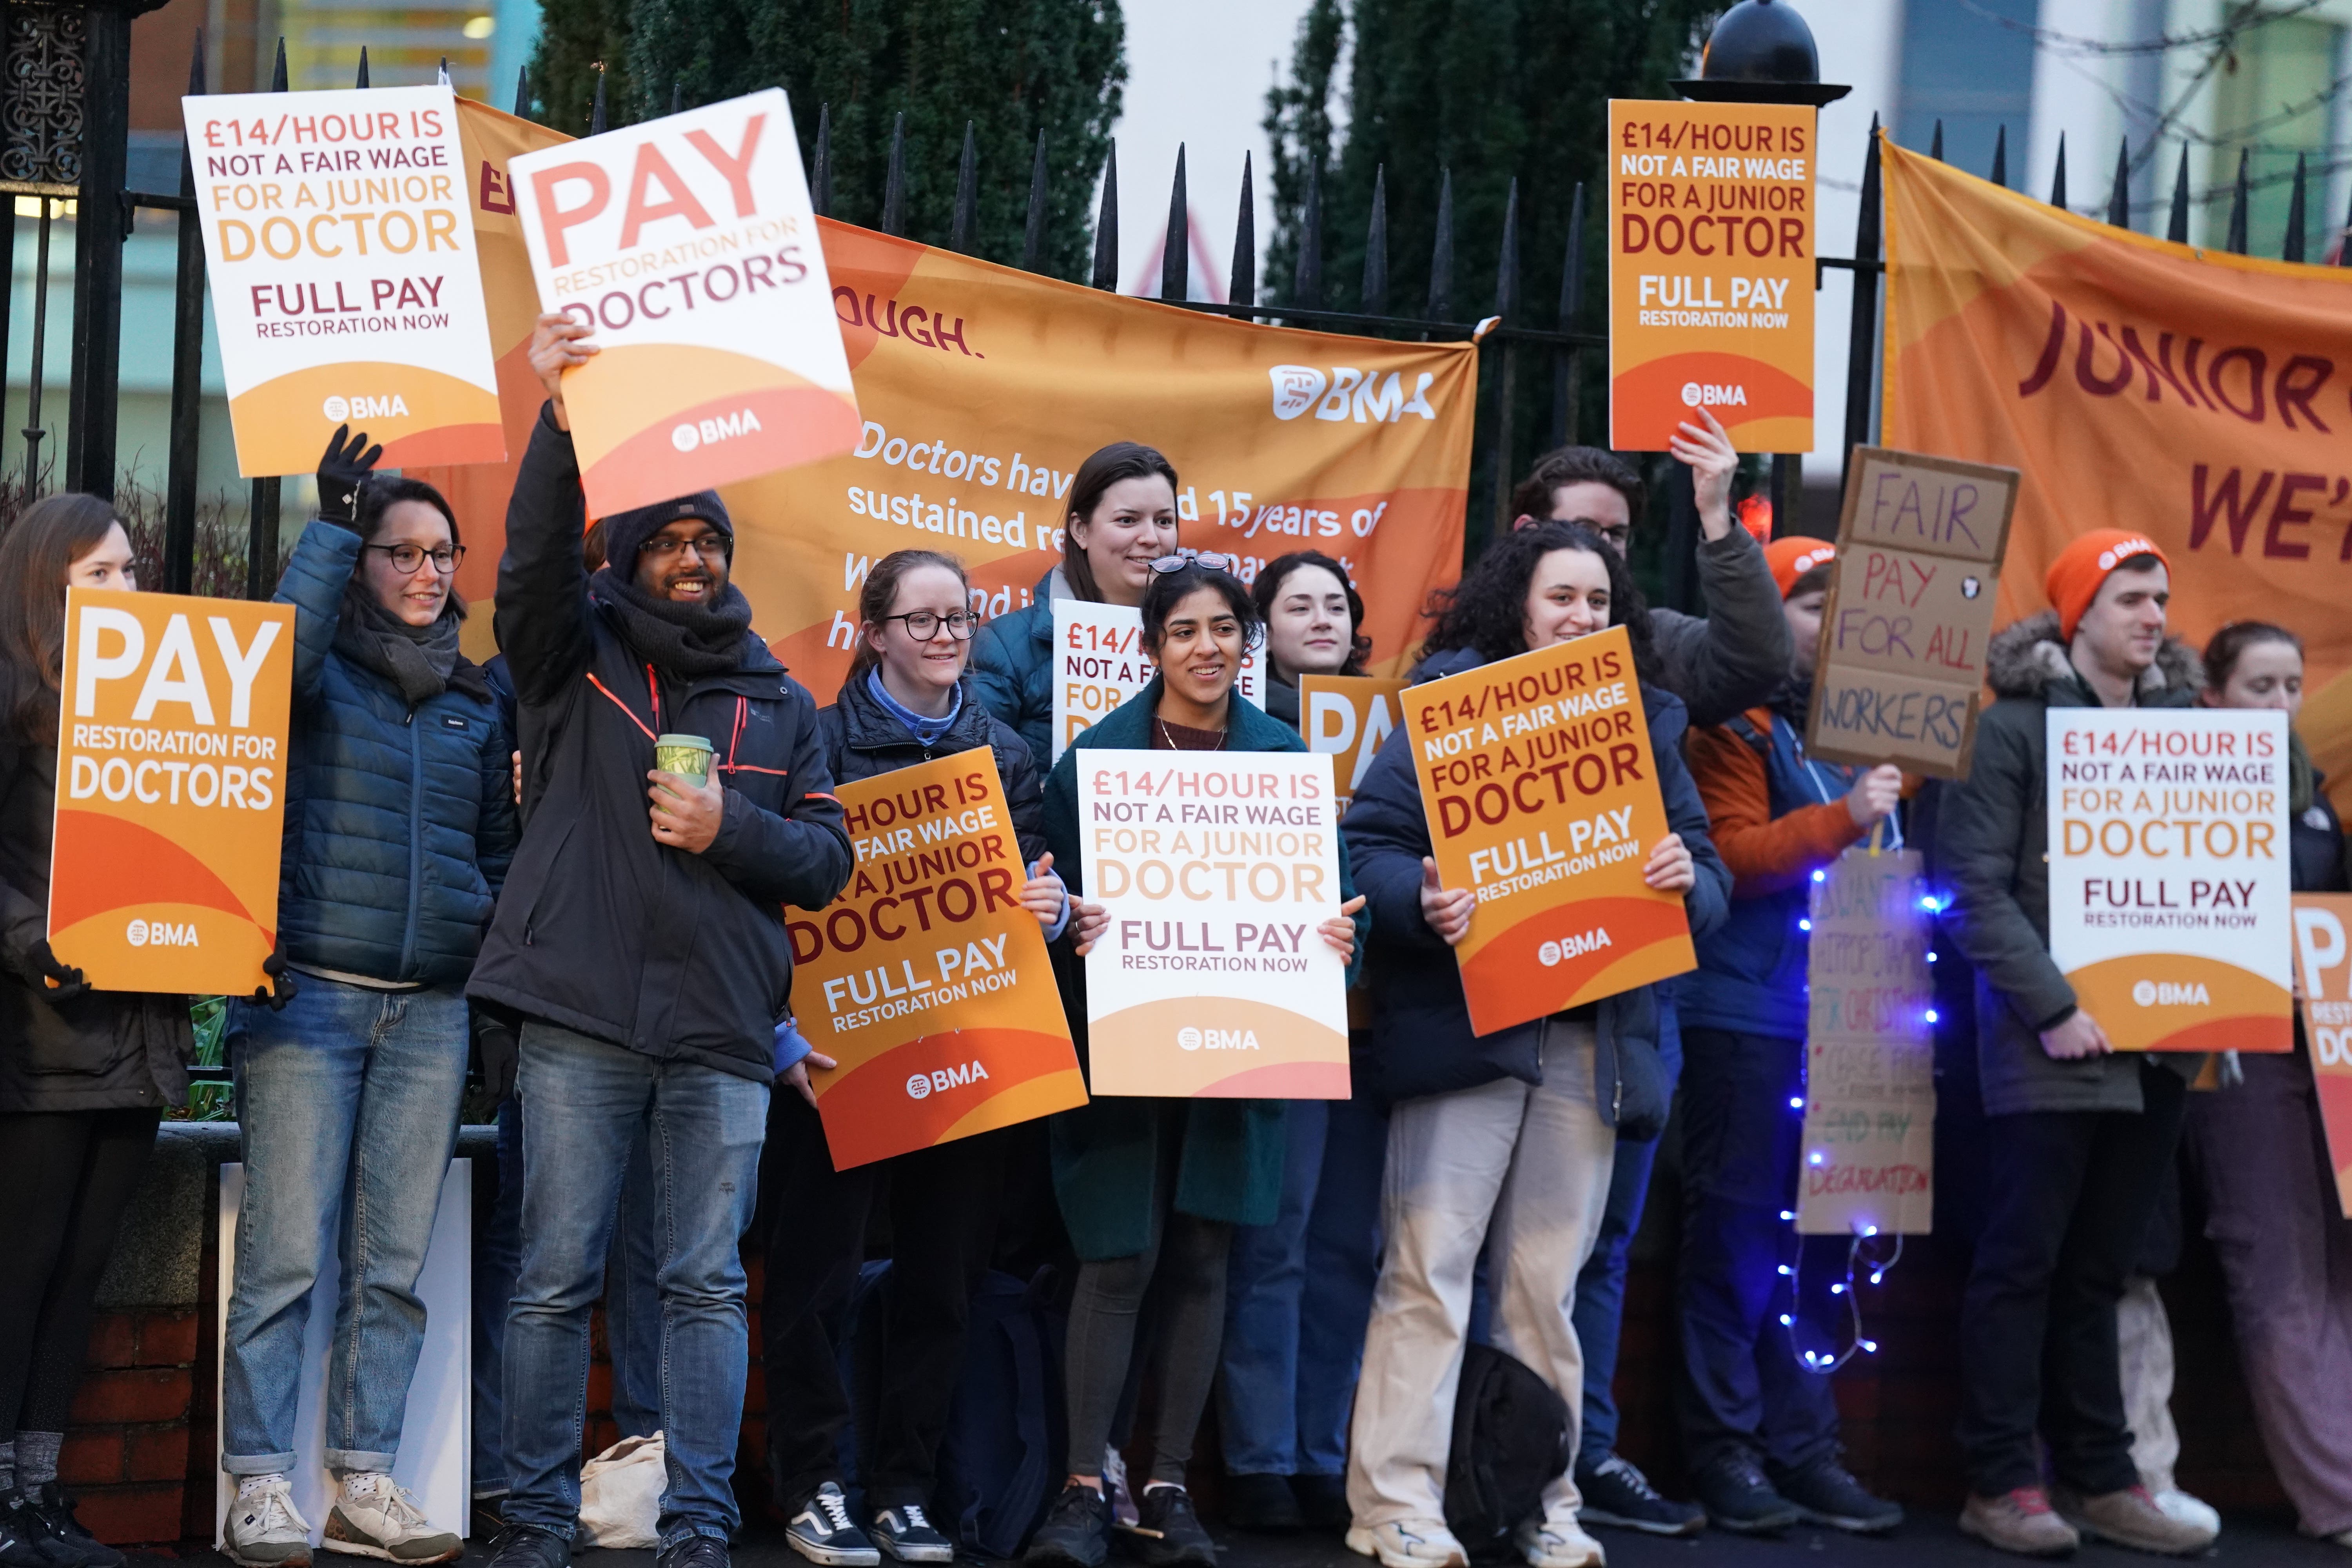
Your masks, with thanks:
[[[833,1168],[1087,1103],[988,748],[840,785],[858,870],[793,912],[800,1032]]]

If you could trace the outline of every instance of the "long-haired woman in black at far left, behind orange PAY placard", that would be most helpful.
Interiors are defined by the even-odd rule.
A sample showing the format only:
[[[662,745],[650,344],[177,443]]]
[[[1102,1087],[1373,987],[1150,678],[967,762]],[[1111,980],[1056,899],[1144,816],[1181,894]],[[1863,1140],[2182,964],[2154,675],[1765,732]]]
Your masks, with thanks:
[[[188,999],[89,990],[49,952],[68,588],[136,588],[96,496],[45,496],[0,543],[0,1563],[120,1568],[56,1481],[92,1302],[155,1124],[188,1100]]]

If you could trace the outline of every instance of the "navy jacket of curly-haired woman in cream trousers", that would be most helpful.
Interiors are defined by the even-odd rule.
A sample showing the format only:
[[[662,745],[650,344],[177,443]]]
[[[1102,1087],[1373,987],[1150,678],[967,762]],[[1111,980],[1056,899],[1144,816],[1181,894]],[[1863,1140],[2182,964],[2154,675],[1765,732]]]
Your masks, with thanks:
[[[1428,658],[1416,679],[1475,670],[1475,649]],[[1708,809],[1682,764],[1686,726],[1682,698],[1642,686],[1649,748],[1658,759],[1665,820],[1682,835],[1698,865],[1698,882],[1684,893],[1691,936],[1724,922],[1731,872],[1708,839]],[[1355,860],[1355,884],[1371,900],[1371,952],[1364,964],[1371,990],[1371,1060],[1378,1091],[1388,1100],[1475,1088],[1501,1077],[1543,1081],[1543,1020],[1494,1034],[1470,1032],[1461,966],[1444,938],[1421,919],[1421,858],[1430,853],[1430,825],[1421,809],[1421,776],[1414,743],[1399,726],[1374,757],[1364,785],[1348,804],[1341,839]],[[1656,1135],[1665,1126],[1668,1084],[1656,1070],[1658,997],[1642,985],[1595,1006],[1599,1034],[1599,1107],[1611,1126]],[[1632,1135],[1632,1133],[1628,1133]]]

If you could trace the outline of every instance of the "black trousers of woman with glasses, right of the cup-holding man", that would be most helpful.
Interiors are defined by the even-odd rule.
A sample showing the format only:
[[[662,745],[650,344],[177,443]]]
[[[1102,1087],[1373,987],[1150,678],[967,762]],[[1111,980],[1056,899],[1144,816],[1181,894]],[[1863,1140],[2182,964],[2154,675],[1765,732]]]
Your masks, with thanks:
[[[816,1112],[776,1086],[760,1164],[769,1215],[760,1356],[769,1467],[786,1509],[842,1474],[851,1408],[835,1333],[866,1262],[877,1197],[889,1204],[891,1272],[880,1345],[861,1359],[858,1474],[873,1509],[931,1502],[971,1291],[995,1244],[1000,1166],[1002,1138],[978,1133],[835,1171]]]

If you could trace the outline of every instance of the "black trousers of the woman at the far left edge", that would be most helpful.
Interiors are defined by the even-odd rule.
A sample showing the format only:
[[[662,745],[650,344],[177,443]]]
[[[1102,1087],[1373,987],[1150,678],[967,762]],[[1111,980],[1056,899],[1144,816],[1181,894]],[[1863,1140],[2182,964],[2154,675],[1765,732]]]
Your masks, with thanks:
[[[155,1110],[0,1117],[0,1443],[64,1432],[89,1356],[89,1305],[155,1147]]]

